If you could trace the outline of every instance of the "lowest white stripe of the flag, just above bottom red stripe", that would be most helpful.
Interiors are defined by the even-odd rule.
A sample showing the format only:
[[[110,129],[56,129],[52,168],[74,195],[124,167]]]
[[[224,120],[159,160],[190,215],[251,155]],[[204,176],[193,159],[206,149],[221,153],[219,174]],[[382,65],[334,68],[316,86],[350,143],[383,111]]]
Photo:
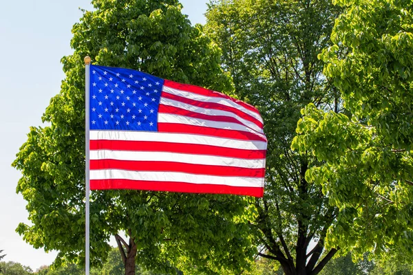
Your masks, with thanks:
[[[90,179],[131,179],[142,181],[176,181],[189,184],[222,184],[226,186],[264,187],[261,177],[222,177],[178,172],[128,170],[91,170]]]

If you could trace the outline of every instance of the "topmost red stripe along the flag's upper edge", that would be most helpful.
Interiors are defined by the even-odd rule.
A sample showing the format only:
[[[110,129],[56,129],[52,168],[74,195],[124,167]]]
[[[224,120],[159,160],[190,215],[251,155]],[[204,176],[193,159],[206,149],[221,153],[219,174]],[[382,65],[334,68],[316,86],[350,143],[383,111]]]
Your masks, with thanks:
[[[226,94],[219,93],[218,91],[205,89],[205,88],[198,87],[198,86],[195,86],[195,85],[176,83],[176,82],[173,82],[171,80],[166,80],[166,79],[165,79],[164,85],[167,86],[167,87],[171,87],[173,89],[178,89],[178,90],[182,90],[182,91],[189,91],[190,93],[193,93],[193,94],[200,94],[202,96],[211,96],[211,97],[214,97],[214,98],[226,98],[227,100],[231,100],[232,102],[235,102],[237,104],[242,105],[242,107],[244,107],[244,108],[246,108],[250,111],[253,111],[254,113],[260,114],[260,112],[257,110],[257,108],[253,107],[252,105],[250,105],[250,104],[248,104],[244,101],[237,100],[235,98],[231,98],[231,96],[226,96]]]

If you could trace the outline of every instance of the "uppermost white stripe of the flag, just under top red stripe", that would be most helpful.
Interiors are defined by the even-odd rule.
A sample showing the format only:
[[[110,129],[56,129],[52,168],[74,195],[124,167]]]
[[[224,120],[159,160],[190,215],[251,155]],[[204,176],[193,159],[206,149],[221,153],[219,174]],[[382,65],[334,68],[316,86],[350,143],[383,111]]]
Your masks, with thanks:
[[[259,113],[248,110],[242,105],[237,104],[236,102],[233,102],[232,100],[228,100],[226,98],[218,98],[218,97],[213,97],[213,96],[202,96],[200,94],[191,93],[190,91],[182,91],[178,89],[173,89],[165,85],[162,87],[162,91],[165,91],[165,93],[168,93],[168,94],[182,96],[183,98],[190,98],[192,100],[197,100],[197,101],[202,101],[202,102],[214,102],[214,103],[222,104],[224,106],[233,107],[233,108],[236,108],[246,113],[247,115],[253,116],[255,119],[260,120],[260,122],[263,122],[261,115]]]

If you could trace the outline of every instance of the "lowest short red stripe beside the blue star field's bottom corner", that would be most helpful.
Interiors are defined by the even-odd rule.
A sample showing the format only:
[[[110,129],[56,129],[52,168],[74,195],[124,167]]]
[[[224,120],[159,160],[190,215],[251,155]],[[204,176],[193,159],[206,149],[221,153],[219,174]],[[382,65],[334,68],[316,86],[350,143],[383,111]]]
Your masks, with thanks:
[[[158,131],[165,133],[195,133],[198,135],[210,135],[214,137],[226,137],[234,140],[257,140],[267,142],[264,137],[256,135],[255,133],[249,133],[245,131],[217,129],[204,126],[195,126],[188,124],[178,123],[158,123]]]

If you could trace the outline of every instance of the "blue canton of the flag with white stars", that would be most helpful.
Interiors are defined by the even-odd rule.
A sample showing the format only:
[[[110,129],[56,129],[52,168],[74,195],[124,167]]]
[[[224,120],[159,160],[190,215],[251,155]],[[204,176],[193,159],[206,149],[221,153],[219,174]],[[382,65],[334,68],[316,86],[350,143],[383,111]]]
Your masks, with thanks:
[[[164,80],[132,69],[90,66],[90,129],[158,131]]]

